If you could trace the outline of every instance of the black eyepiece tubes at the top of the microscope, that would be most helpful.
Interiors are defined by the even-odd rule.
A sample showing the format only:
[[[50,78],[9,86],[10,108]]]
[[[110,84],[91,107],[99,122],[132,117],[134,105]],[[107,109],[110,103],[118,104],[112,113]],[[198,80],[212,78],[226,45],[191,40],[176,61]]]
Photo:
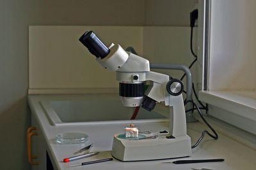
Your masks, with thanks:
[[[89,52],[96,57],[104,59],[109,53],[108,46],[104,45],[93,31],[84,32],[83,36],[79,38],[79,41],[81,41],[81,43],[88,48]]]

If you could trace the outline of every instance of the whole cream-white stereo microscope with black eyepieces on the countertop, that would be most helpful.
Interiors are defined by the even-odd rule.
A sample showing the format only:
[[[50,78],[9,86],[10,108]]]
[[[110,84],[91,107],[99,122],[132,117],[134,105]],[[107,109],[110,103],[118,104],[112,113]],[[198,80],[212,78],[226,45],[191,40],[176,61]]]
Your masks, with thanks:
[[[154,139],[122,138],[115,134],[112,155],[121,161],[157,160],[191,155],[191,139],[186,133],[186,115],[180,80],[150,71],[147,59],[113,43],[108,47],[93,31],[86,31],[79,41],[95,55],[97,62],[109,71],[116,71],[119,95],[124,106],[141,106],[151,111],[157,103],[170,106],[170,128]],[[145,91],[145,82],[150,85]]]

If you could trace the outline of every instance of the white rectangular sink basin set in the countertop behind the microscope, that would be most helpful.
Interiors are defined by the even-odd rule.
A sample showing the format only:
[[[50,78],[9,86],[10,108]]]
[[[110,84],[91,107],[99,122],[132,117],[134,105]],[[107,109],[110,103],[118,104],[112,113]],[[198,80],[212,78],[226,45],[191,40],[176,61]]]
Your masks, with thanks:
[[[49,100],[40,101],[40,104],[52,125],[169,121],[163,113],[157,110],[147,111],[143,108],[140,108],[136,120],[130,120],[135,108],[122,106],[119,96],[90,96],[82,100]]]

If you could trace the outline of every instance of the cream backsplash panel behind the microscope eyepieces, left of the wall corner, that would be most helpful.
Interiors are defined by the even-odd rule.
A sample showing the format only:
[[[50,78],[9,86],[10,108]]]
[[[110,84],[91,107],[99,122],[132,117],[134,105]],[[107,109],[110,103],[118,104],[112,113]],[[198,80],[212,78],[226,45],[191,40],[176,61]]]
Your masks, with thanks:
[[[142,55],[143,27],[134,26],[30,26],[29,93],[51,89],[93,92],[95,88],[118,92],[115,71],[108,71],[78,41],[93,30],[106,44],[126,49],[133,46]],[[65,36],[63,36],[65,35]],[[47,68],[47,69],[45,69]],[[85,89],[86,88],[86,89]],[[111,90],[112,89],[112,90]],[[99,89],[95,89],[99,92]]]

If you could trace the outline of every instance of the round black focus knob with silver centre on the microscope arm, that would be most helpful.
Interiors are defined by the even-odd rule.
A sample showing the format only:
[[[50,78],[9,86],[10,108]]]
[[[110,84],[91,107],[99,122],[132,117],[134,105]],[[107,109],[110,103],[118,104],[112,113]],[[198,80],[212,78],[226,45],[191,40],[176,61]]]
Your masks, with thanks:
[[[173,78],[166,84],[166,90],[172,96],[179,96],[184,90],[184,85],[182,81]]]

